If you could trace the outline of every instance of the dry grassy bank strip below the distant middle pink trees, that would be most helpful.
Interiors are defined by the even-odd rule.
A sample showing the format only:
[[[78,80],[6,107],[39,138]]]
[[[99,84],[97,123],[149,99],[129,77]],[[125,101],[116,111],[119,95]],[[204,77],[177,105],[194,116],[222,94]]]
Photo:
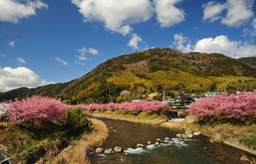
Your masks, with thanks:
[[[93,117],[120,119],[142,124],[161,124],[169,120],[169,117],[166,115],[158,113],[148,114],[147,112],[140,112],[139,114],[124,114],[119,110],[85,110],[85,114]]]

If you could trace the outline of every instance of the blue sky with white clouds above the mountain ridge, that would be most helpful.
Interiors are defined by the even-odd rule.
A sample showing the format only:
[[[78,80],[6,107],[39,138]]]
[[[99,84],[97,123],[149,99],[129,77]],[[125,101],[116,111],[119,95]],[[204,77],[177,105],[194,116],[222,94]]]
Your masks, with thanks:
[[[255,57],[255,0],[0,0],[0,92],[154,47]]]

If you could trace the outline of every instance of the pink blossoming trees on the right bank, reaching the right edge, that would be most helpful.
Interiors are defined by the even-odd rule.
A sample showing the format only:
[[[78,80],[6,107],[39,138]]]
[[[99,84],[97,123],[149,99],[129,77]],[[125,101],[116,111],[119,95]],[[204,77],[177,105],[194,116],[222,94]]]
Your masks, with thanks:
[[[198,121],[255,122],[256,90],[240,95],[225,93],[212,98],[201,98],[190,105],[188,112],[196,115]]]

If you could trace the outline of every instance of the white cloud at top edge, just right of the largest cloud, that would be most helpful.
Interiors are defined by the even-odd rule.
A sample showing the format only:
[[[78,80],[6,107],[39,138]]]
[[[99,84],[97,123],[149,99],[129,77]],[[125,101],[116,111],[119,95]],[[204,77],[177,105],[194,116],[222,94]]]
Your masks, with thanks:
[[[185,21],[185,12],[181,8],[176,8],[176,4],[183,0],[154,0],[156,9],[156,19],[161,27],[170,27]]]

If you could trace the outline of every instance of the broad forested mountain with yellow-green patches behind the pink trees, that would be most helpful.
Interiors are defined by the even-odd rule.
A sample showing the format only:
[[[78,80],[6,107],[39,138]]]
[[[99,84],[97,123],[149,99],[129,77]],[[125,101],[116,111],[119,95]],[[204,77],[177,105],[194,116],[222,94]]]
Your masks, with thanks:
[[[128,97],[165,90],[167,95],[171,95],[170,90],[195,93],[223,88],[252,90],[256,88],[256,69],[254,62],[249,61],[217,53],[183,53],[170,48],[154,48],[108,59],[85,76],[67,83],[21,92],[11,90],[15,94],[8,98],[47,95],[76,104],[116,102],[117,98],[122,99],[119,97],[122,90],[129,90]],[[5,93],[0,93],[0,100],[4,96]]]

